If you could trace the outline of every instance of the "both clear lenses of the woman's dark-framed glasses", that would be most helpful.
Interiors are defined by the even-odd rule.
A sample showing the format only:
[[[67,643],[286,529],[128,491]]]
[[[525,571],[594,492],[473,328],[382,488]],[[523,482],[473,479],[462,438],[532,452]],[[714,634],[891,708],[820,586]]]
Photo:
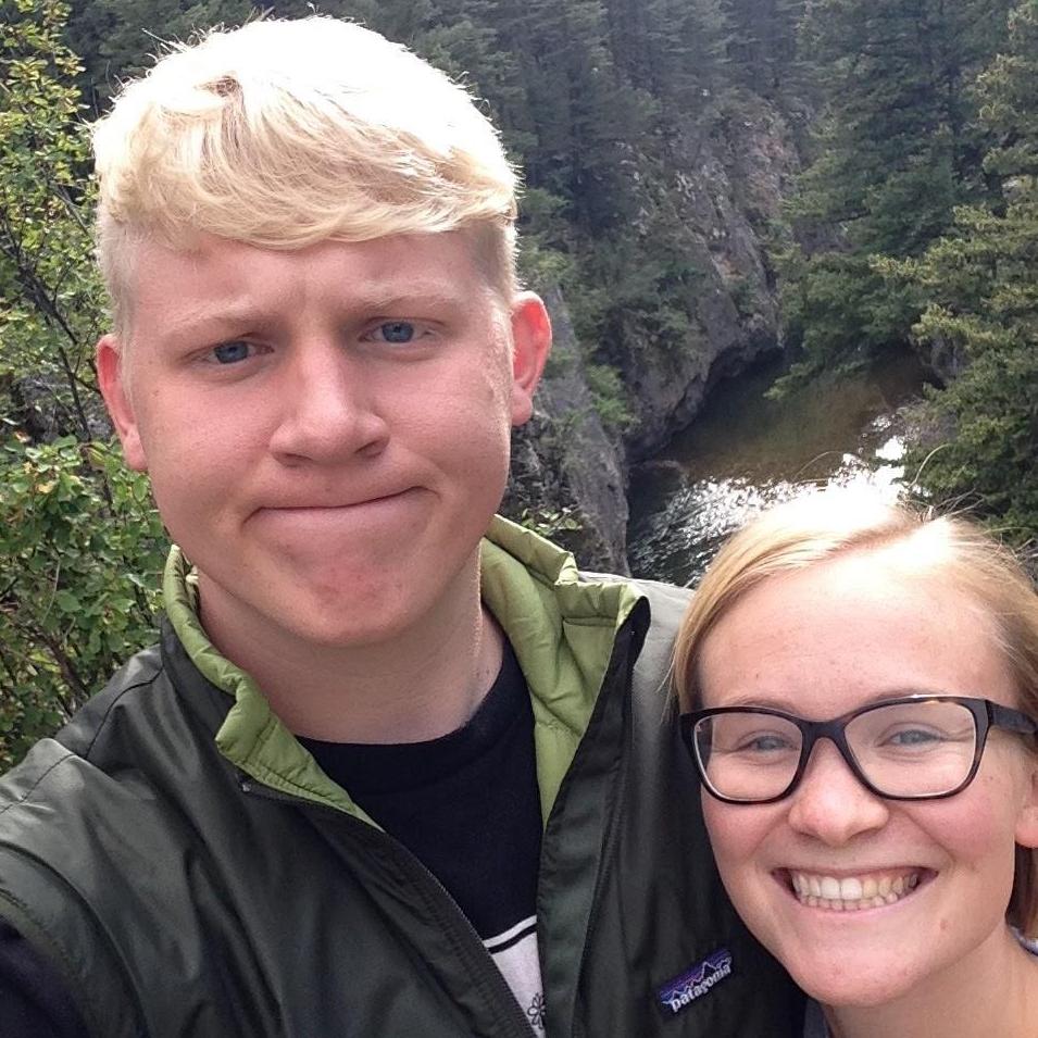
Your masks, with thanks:
[[[872,786],[890,797],[934,797],[968,777],[976,723],[960,703],[923,700],[866,710],[845,727],[847,745]],[[789,788],[803,736],[766,713],[714,714],[695,728],[700,768],[729,800],[771,800]]]

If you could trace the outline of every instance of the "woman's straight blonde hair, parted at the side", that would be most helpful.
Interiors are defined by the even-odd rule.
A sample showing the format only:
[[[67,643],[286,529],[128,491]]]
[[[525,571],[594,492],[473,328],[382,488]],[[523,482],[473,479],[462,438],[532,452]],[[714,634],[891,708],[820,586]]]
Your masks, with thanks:
[[[770,577],[850,552],[896,547],[905,549],[897,558],[908,575],[947,581],[988,617],[1016,685],[1020,709],[1038,720],[1038,595],[1014,553],[963,516],[935,515],[845,490],[777,505],[717,553],[675,642],[674,684],[681,709],[698,704],[704,639],[750,590]],[[1025,933],[1038,929],[1038,852],[1029,848],[1016,848],[1006,915]]]

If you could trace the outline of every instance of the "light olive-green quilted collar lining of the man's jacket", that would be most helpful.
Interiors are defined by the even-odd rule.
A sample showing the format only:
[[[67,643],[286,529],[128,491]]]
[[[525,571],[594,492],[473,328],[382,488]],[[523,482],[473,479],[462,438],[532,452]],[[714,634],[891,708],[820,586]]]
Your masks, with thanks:
[[[482,593],[523,668],[534,708],[541,816],[547,820],[587,727],[616,633],[639,599],[627,583],[588,580],[573,556],[495,517],[482,545]],[[199,622],[190,565],[174,547],[163,584],[170,621],[193,664],[235,700],[221,753],[257,781],[375,824],[271,710],[252,678],[222,656]]]

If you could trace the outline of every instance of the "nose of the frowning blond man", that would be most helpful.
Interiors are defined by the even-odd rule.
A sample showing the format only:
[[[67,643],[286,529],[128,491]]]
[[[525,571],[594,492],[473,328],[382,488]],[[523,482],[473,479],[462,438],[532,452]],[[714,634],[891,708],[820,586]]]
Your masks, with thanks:
[[[277,385],[283,399],[271,450],[286,464],[374,455],[389,439],[363,360],[335,341],[299,346]]]

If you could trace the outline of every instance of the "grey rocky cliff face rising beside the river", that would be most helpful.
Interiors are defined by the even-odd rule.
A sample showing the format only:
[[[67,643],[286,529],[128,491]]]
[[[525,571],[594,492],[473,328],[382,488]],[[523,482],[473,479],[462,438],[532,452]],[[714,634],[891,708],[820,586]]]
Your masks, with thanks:
[[[671,188],[675,229],[700,272],[687,300],[696,318],[688,341],[679,349],[610,343],[610,360],[637,417],[622,438],[610,435],[595,413],[564,300],[547,293],[562,360],[538,391],[534,421],[513,439],[505,513],[548,517],[539,525],[587,568],[626,572],[628,465],[688,425],[720,379],[781,349],[765,238],[799,170],[789,123],[754,101],[709,136],[690,130],[672,154],[678,171]],[[580,530],[559,529],[560,522],[575,522]]]

